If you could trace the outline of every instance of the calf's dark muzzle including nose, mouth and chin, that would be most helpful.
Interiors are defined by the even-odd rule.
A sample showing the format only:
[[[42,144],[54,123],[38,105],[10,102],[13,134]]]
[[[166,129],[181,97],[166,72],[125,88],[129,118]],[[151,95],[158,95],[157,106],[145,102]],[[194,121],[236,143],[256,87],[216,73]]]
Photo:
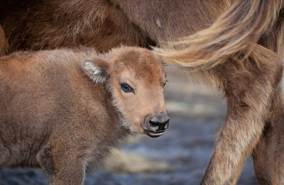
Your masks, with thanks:
[[[167,112],[154,113],[144,118],[143,128],[150,137],[159,137],[169,126],[169,115]]]

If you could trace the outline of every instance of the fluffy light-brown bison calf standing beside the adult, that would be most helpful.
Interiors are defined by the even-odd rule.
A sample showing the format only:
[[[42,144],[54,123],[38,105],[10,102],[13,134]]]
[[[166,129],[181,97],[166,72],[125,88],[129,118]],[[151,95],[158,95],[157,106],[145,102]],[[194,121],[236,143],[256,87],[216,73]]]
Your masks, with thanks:
[[[0,170],[41,167],[50,184],[83,184],[129,135],[168,128],[162,61],[121,47],[0,58]]]

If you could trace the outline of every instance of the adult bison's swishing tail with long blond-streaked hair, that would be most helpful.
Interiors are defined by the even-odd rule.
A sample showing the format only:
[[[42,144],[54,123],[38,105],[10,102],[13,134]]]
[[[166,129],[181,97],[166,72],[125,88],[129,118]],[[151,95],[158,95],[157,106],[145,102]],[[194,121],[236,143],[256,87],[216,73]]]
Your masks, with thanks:
[[[213,67],[238,53],[248,54],[276,21],[284,0],[237,0],[209,28],[154,48],[164,61]]]

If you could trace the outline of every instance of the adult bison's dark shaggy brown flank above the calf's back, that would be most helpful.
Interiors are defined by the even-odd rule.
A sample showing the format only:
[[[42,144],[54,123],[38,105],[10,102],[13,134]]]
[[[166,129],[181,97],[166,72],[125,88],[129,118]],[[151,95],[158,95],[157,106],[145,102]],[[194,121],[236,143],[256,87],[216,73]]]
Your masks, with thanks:
[[[74,47],[80,44],[95,47],[100,52],[121,43],[147,46],[147,37],[117,6],[107,1],[3,3],[0,6],[0,24],[6,30],[12,51]]]

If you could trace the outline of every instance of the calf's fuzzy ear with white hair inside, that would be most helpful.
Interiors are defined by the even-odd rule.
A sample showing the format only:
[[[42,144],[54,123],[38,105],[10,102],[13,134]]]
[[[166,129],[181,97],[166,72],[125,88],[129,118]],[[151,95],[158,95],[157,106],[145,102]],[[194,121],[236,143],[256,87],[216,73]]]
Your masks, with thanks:
[[[82,68],[94,83],[105,84],[108,79],[108,62],[101,57],[84,60]]]

